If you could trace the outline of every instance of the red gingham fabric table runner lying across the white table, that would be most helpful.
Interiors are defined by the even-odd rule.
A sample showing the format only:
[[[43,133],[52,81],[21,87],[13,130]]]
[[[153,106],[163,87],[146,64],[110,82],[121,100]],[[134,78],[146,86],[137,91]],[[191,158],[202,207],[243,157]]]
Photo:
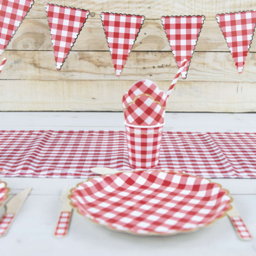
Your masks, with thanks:
[[[125,132],[0,131],[0,177],[88,178],[96,166],[131,169]],[[256,178],[256,133],[163,132],[154,169]]]

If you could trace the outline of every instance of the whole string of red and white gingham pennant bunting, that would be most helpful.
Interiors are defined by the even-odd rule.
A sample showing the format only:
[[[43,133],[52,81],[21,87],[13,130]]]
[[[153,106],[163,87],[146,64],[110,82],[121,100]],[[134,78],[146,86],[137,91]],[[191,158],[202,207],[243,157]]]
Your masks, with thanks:
[[[121,75],[145,20],[161,20],[178,68],[181,67],[183,59],[188,60],[181,72],[183,79],[187,76],[205,19],[215,19],[220,26],[238,73],[243,72],[256,27],[254,10],[221,13],[216,14],[216,17],[176,15],[146,18],[142,15],[125,13],[90,13],[89,10],[48,3],[40,4],[34,0],[0,0],[0,56],[30,11],[32,4],[45,7],[57,70],[62,68],[89,14],[92,17],[99,15],[102,20],[116,76]]]

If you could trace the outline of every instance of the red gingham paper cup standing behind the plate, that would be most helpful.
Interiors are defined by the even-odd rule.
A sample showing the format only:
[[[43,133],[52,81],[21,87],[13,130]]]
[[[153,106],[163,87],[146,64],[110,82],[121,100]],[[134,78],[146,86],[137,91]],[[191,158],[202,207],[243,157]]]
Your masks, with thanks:
[[[158,164],[164,124],[139,126],[124,122],[131,166],[153,168]]]

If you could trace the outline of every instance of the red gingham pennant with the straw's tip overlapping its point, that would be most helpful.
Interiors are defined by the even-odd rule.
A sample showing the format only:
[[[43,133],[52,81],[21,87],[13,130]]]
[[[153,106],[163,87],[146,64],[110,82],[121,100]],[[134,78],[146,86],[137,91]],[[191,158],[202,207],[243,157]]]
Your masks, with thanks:
[[[186,78],[204,19],[203,15],[161,17],[177,66],[180,67],[184,59],[188,60],[186,70],[181,73],[183,79]]]

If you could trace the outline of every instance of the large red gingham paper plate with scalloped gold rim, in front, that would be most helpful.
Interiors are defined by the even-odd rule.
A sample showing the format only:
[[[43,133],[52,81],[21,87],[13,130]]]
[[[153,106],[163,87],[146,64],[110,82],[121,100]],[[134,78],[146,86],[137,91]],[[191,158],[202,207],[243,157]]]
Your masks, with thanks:
[[[180,173],[123,172],[80,183],[71,201],[79,213],[119,231],[175,234],[212,223],[230,209],[228,192]]]

